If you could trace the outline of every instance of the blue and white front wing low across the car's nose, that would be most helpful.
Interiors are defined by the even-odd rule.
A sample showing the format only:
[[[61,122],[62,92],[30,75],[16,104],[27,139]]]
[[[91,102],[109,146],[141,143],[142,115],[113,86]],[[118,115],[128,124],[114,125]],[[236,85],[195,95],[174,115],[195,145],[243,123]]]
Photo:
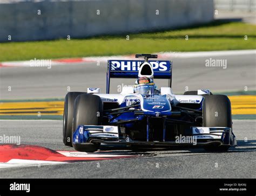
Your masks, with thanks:
[[[104,143],[124,145],[237,145],[235,135],[227,127],[191,127],[190,136],[176,136],[175,141],[132,141],[120,136],[117,126],[79,125],[73,133],[73,143]]]

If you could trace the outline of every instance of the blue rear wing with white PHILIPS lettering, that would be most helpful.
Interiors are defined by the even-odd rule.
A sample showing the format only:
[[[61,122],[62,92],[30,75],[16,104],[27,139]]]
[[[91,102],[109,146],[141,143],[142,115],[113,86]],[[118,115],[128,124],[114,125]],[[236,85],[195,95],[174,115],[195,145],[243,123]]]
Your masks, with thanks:
[[[106,93],[110,91],[110,78],[138,78],[139,66],[144,60],[108,60],[106,73]],[[172,85],[172,62],[150,60],[154,79],[169,79]]]

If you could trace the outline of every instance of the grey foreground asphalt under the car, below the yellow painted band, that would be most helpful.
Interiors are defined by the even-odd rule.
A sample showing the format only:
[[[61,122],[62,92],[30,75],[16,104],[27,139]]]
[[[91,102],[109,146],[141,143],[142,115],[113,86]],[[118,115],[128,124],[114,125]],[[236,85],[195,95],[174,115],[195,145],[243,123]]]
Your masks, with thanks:
[[[72,150],[62,143],[62,121],[1,120],[0,124],[0,135],[6,131],[8,135],[20,135],[21,144]],[[0,169],[0,178],[255,178],[255,127],[254,120],[233,120],[238,146],[228,152],[177,148],[146,150],[140,152],[144,156],[139,158]],[[102,150],[130,152],[110,147]]]

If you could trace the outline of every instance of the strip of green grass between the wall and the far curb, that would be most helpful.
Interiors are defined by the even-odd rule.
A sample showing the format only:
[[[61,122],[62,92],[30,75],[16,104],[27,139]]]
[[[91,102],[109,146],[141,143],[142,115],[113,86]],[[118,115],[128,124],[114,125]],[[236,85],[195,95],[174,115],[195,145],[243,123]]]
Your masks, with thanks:
[[[189,39],[185,40],[185,36]],[[248,40],[244,36],[248,36]],[[179,30],[100,36],[86,39],[60,39],[0,43],[0,61],[124,55],[165,51],[245,50],[256,48],[256,25],[240,22],[213,22]]]

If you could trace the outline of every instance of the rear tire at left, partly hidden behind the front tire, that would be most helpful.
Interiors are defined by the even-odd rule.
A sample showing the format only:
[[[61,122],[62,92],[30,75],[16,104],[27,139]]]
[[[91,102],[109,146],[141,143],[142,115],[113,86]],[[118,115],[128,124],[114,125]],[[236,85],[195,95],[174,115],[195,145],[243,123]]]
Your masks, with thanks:
[[[85,94],[83,92],[69,92],[65,96],[64,113],[63,113],[63,143],[66,146],[72,146],[72,121],[74,102],[78,95]]]

